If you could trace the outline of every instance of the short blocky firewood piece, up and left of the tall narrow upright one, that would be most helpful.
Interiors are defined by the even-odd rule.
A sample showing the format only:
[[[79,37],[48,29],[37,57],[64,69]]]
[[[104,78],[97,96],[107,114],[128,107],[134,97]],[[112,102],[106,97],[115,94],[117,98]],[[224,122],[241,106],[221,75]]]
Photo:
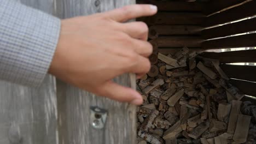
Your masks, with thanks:
[[[231,110],[231,104],[219,104],[217,117],[220,122],[229,122],[229,113]]]

